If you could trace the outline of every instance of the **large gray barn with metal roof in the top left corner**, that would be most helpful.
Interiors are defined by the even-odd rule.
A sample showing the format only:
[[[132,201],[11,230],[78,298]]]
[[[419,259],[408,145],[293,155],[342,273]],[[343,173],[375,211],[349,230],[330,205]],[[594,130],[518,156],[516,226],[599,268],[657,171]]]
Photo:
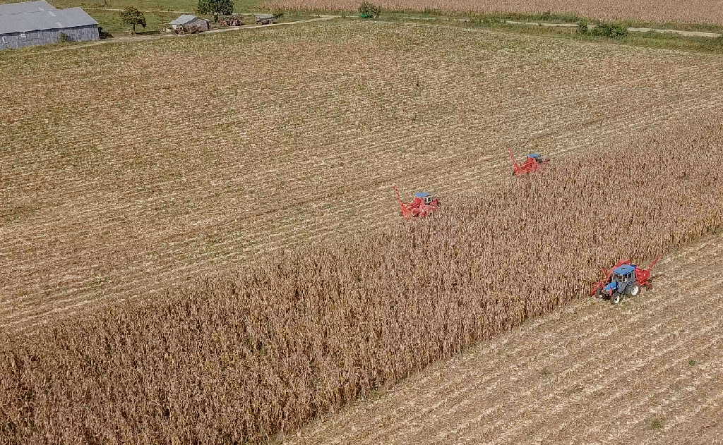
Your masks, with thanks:
[[[44,0],[0,4],[0,50],[98,40],[98,22],[82,8],[55,9]]]

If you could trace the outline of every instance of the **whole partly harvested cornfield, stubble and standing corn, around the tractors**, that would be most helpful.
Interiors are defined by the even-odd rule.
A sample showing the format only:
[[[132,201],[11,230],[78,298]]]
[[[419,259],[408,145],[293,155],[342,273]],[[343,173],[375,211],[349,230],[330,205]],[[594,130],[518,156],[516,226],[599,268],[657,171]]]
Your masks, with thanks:
[[[0,444],[719,438],[720,56],[339,20],[2,57]]]

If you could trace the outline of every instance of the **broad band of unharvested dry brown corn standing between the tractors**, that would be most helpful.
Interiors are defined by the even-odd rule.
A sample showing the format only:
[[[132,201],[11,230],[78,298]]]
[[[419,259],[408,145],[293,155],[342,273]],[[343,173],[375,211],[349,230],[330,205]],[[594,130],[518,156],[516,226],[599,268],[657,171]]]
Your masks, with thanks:
[[[257,441],[723,225],[723,125],[555,160],[388,233],[1,340],[1,443]],[[644,295],[641,298],[645,298]]]

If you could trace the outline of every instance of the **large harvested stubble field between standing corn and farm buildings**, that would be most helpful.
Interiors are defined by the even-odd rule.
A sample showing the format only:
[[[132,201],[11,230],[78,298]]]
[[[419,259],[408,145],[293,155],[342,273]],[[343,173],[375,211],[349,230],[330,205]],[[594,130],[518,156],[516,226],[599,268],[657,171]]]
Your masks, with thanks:
[[[403,56],[400,56],[403,54]],[[716,56],[325,23],[3,55],[0,329],[27,329],[485,194],[723,105]]]

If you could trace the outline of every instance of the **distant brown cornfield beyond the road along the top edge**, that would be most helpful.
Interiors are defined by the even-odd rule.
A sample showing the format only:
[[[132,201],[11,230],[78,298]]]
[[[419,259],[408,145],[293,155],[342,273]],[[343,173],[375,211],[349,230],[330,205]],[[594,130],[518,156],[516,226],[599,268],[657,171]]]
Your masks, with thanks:
[[[359,3],[357,0],[267,0],[262,6],[297,11],[356,11]],[[718,0],[375,0],[372,3],[393,12],[572,14],[598,20],[723,25],[723,8]]]

